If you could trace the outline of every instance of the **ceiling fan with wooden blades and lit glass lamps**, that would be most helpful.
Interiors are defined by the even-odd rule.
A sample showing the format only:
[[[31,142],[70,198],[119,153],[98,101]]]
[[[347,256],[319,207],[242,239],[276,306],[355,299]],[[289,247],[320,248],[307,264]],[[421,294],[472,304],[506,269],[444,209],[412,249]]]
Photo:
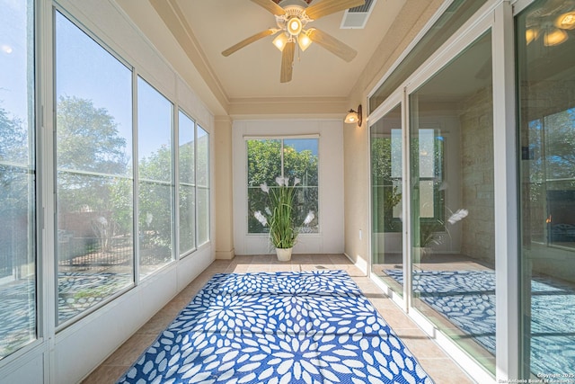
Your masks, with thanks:
[[[315,42],[348,62],[358,54],[355,49],[335,39],[328,33],[317,28],[305,29],[305,27],[308,22],[313,22],[320,17],[363,5],[365,0],[323,0],[313,5],[308,5],[305,0],[281,0],[279,4],[276,4],[273,0],[252,0],[252,2],[276,16],[277,28],[270,28],[256,33],[224,50],[222,55],[227,57],[236,50],[252,44],[252,42],[280,32],[273,40],[273,44],[281,51],[279,81],[288,83],[292,77],[296,42],[302,51],[307,49],[312,42]]]

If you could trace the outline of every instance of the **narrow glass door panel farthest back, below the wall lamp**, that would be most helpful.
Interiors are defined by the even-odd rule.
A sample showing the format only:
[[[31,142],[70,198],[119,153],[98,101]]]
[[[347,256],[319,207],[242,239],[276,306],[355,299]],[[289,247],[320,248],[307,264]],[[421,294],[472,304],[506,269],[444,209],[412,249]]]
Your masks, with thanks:
[[[403,295],[402,108],[370,127],[372,273]]]

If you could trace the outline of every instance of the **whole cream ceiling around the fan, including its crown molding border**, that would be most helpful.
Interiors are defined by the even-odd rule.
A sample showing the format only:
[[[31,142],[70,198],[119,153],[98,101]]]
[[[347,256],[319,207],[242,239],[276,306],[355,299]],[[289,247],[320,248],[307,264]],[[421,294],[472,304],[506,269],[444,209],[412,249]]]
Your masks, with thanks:
[[[440,0],[375,0],[364,29],[341,29],[343,11],[311,22],[308,26],[331,34],[356,49],[358,55],[348,63],[317,44],[305,52],[296,50],[292,81],[281,84],[281,52],[272,45],[273,36],[258,40],[227,58],[221,54],[240,40],[276,26],[274,15],[260,5],[250,0],[115,1],[160,51],[167,36],[159,29],[158,22],[167,27],[165,31],[184,49],[218,103],[228,107],[270,100],[278,103],[320,100],[324,105],[332,100],[345,103],[341,100],[350,97],[362,76],[364,83],[365,77],[372,81],[374,76],[381,76],[378,71],[388,58],[401,53],[398,46],[405,45],[406,36],[412,39],[417,33],[413,25],[419,23],[420,28],[421,18],[429,17],[442,3]],[[320,1],[326,0],[313,0],[311,4]],[[378,67],[372,64],[374,58]],[[339,111],[341,107],[338,108]]]

